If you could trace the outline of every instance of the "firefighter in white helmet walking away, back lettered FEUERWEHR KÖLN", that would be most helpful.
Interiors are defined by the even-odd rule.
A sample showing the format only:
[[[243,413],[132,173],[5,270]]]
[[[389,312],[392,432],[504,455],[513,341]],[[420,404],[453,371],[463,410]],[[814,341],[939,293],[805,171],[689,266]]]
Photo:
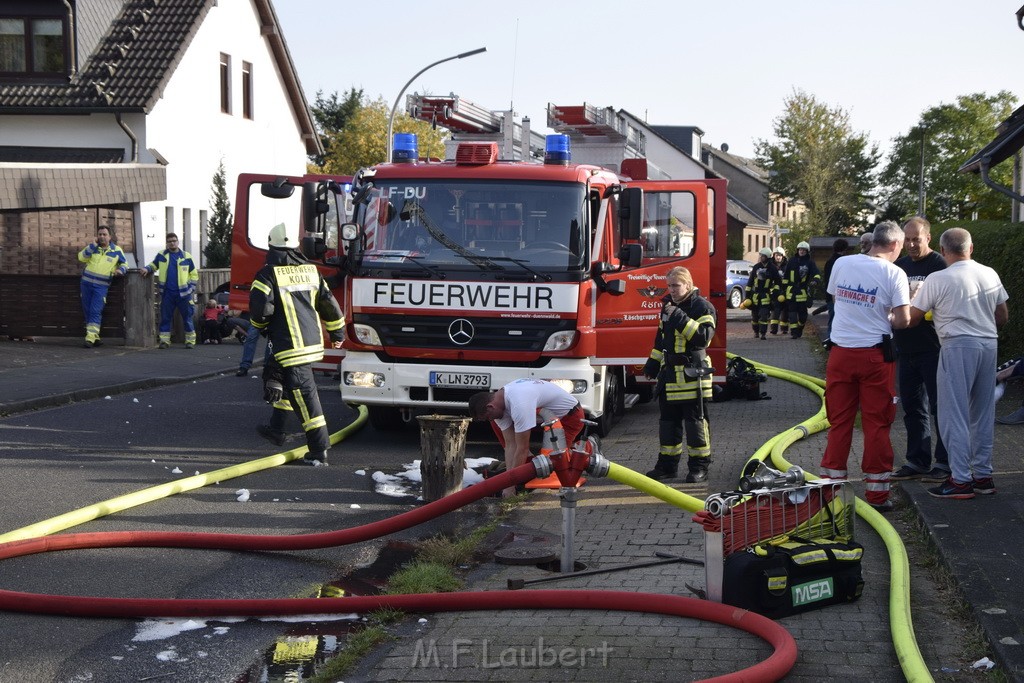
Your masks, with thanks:
[[[326,465],[331,446],[327,419],[321,407],[312,364],[324,357],[324,332],[341,348],[344,318],[341,307],[316,266],[289,247],[284,224],[270,230],[270,250],[253,281],[249,312],[254,328],[267,337],[271,357],[263,370],[263,398],[273,404],[269,425],[257,428],[261,436],[282,445],[288,412],[302,422],[309,452],[307,465]]]

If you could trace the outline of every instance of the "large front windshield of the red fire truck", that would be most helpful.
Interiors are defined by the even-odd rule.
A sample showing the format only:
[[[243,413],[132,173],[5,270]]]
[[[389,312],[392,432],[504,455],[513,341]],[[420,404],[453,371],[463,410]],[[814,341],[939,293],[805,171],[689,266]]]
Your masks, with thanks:
[[[498,276],[581,271],[590,220],[577,183],[375,181],[356,207],[362,264]]]

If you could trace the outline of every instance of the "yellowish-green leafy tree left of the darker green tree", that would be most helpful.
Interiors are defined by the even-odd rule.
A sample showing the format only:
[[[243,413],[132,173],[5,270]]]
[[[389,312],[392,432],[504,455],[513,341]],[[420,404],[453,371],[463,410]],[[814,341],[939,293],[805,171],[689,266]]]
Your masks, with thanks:
[[[758,140],[758,164],[769,171],[772,194],[803,200],[810,229],[838,234],[860,222],[874,187],[880,153],[850,117],[802,90],[784,101],[774,121],[775,141]]]

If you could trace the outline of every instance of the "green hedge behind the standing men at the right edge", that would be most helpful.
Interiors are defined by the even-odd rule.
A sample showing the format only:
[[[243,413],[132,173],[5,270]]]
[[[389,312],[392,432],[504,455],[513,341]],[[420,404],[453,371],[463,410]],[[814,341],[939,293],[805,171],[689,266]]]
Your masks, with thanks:
[[[950,221],[932,225],[932,249],[949,227],[963,227],[974,241],[974,259],[995,268],[1010,295],[1010,322],[999,329],[999,361],[1024,355],[1024,223],[998,220]]]

